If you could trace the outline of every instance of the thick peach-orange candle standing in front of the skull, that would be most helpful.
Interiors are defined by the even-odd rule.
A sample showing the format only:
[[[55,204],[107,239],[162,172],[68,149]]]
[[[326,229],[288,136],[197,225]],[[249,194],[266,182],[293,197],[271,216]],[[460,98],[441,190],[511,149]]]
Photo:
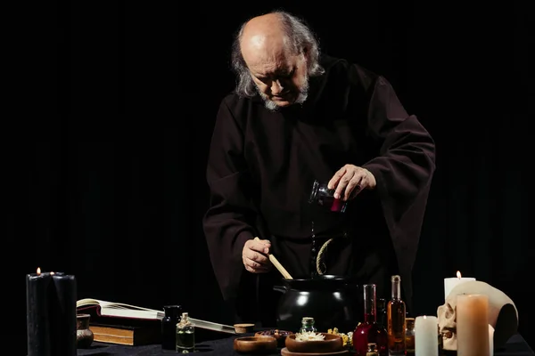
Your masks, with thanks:
[[[489,297],[457,295],[457,356],[490,356]]]

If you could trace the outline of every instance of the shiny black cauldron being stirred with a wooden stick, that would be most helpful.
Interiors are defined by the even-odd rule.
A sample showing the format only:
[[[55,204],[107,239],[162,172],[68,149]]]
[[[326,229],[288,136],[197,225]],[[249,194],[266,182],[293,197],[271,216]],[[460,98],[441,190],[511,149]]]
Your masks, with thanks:
[[[298,332],[303,317],[314,318],[317,332],[338,328],[353,331],[362,320],[363,296],[355,279],[319,275],[310,279],[283,279],[276,311],[277,328]]]

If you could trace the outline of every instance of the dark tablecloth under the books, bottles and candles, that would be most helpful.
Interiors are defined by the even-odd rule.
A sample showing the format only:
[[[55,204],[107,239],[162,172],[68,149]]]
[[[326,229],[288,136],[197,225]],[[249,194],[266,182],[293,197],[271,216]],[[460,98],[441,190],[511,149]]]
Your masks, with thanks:
[[[218,356],[243,356],[235,352],[233,341],[235,336],[196,344],[195,353]],[[160,356],[177,354],[174,351],[161,350],[161,345],[122,346],[116,344],[94,343],[90,349],[78,350],[78,356]],[[279,356],[280,350],[269,356]],[[496,356],[535,356],[522,336],[515,335],[506,344],[505,350],[495,350]]]

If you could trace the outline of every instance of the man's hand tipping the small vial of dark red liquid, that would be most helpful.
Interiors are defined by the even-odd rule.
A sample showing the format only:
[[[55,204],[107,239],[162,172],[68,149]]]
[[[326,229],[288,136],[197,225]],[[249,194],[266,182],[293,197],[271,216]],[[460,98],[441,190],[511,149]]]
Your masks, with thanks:
[[[362,190],[375,188],[374,174],[366,168],[355,165],[345,165],[333,175],[327,188],[334,189],[334,198],[349,200],[355,198]]]

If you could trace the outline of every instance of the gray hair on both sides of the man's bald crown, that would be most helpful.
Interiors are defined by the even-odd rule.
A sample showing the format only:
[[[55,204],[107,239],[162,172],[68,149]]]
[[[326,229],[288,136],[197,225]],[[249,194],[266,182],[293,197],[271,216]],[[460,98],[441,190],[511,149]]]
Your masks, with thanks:
[[[290,40],[289,45],[292,53],[308,54],[309,61],[307,62],[307,67],[309,77],[322,75],[325,69],[319,62],[319,43],[305,21],[284,11],[271,13],[275,13],[280,18],[284,33]],[[240,39],[242,38],[243,28],[245,28],[247,22],[245,21],[240,27],[232,44],[231,67],[237,77],[235,92],[240,96],[252,97],[258,93],[258,88],[252,81],[251,73],[243,60],[242,50],[240,48]]]

